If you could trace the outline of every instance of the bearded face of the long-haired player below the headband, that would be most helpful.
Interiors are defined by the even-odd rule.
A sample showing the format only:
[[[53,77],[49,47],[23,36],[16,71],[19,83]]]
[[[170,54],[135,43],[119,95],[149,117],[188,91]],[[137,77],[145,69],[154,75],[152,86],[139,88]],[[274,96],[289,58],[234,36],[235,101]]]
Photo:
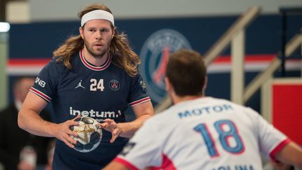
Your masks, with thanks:
[[[107,20],[90,20],[85,27],[80,27],[80,35],[84,39],[85,48],[92,57],[101,58],[110,48],[113,30]]]

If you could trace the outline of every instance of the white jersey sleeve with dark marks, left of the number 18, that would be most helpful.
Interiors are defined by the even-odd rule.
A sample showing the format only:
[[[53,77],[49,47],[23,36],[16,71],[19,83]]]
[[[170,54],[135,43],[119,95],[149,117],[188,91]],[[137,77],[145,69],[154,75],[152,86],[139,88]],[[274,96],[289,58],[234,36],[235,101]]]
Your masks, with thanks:
[[[162,139],[154,134],[159,134],[159,129],[152,124],[152,121],[147,120],[130,139],[122,153],[117,155],[115,161],[129,169],[159,167],[162,162]]]

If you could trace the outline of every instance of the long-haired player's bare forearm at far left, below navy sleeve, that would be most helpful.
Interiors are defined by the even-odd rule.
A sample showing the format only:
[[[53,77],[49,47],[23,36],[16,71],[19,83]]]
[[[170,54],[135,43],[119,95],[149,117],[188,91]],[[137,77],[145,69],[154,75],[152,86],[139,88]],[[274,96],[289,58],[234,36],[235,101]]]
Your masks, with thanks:
[[[31,134],[38,136],[54,137],[52,127],[54,123],[43,120],[33,110],[22,108],[18,115],[18,125]]]

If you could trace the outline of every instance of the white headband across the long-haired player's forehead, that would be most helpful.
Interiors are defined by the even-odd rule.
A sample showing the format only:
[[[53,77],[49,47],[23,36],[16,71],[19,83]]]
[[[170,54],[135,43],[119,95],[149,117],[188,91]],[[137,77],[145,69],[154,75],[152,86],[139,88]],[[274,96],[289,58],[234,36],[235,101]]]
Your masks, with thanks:
[[[106,10],[92,10],[89,13],[85,13],[81,19],[81,27],[89,20],[108,20],[114,26],[114,18],[113,15]]]

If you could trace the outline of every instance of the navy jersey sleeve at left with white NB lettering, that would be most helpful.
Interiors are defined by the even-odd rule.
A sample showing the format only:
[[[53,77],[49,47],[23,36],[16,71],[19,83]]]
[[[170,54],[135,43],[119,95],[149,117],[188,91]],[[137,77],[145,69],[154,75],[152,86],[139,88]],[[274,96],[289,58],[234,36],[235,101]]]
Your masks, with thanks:
[[[34,86],[30,89],[47,102],[50,102],[57,92],[59,71],[56,65],[55,59],[52,59],[44,66],[36,77]]]

